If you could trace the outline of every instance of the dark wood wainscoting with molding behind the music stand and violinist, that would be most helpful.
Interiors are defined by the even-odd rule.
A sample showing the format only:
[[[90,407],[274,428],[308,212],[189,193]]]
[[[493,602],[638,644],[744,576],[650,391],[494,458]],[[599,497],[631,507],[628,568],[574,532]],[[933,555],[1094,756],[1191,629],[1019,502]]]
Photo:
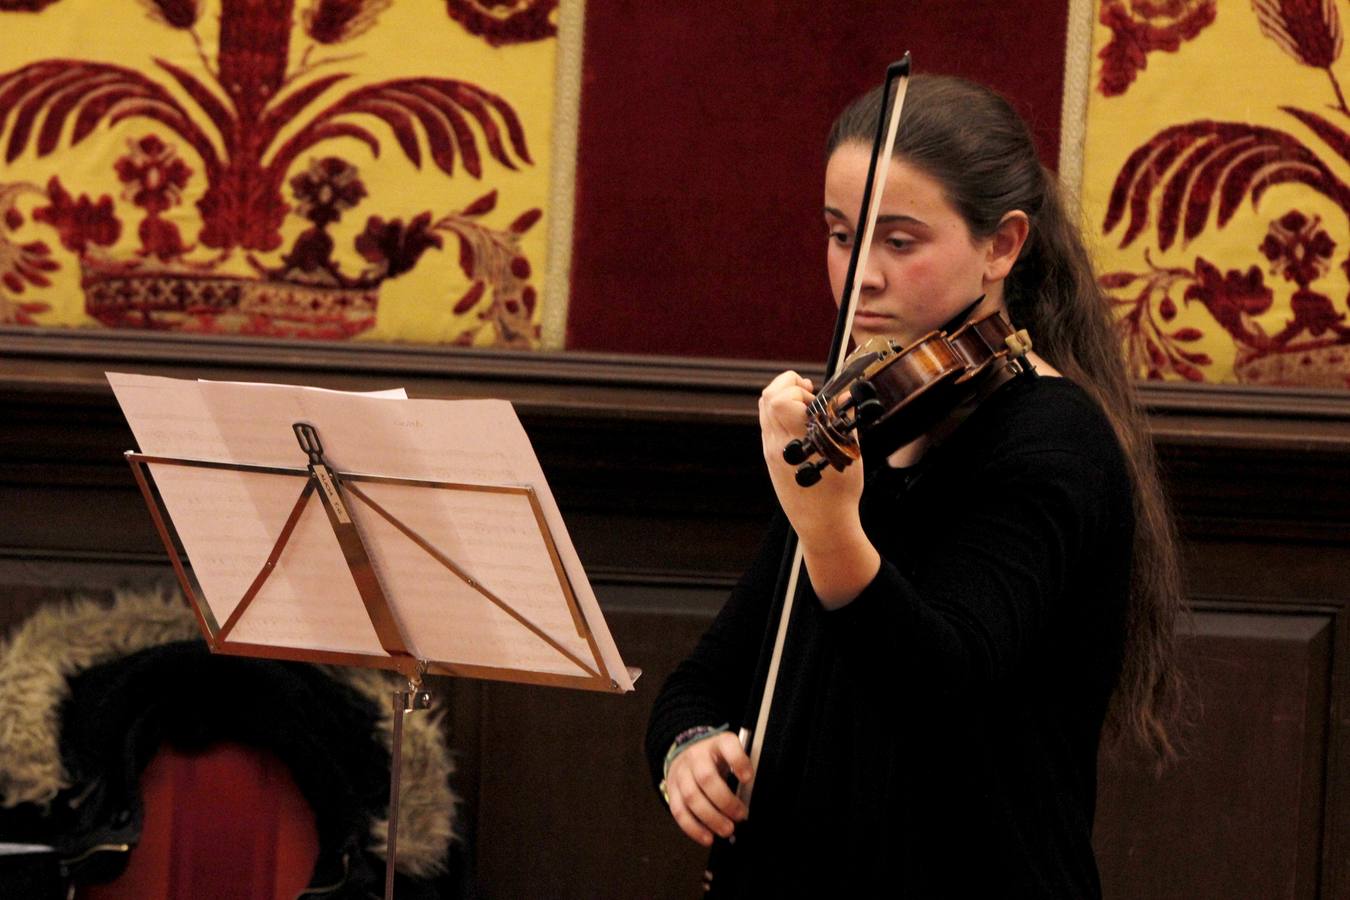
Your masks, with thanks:
[[[72,587],[166,572],[105,368],[512,399],[645,675],[626,698],[437,685],[482,893],[693,896],[703,854],[653,800],[640,741],[768,517],[755,398],[780,366],[0,328],[0,626]],[[1350,900],[1350,395],[1143,397],[1204,598],[1185,644],[1204,715],[1161,780],[1104,762],[1106,882]]]

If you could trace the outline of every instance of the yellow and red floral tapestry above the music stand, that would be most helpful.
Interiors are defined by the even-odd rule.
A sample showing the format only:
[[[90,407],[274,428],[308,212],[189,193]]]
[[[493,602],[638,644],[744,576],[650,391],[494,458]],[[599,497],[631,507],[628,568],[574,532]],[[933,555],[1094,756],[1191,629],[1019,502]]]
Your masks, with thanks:
[[[0,324],[539,345],[556,30],[558,0],[0,0]]]

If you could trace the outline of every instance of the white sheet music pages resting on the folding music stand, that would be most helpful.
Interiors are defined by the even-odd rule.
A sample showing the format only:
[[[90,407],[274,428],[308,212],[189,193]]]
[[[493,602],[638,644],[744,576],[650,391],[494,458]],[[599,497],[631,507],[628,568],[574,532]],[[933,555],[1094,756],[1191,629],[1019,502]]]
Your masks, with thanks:
[[[621,690],[632,690],[630,672],[510,403],[117,372],[108,372],[108,381],[140,452],[148,456],[289,467],[302,474],[306,457],[292,424],[305,421],[317,429],[324,456],[339,472],[533,490],[603,673]],[[204,602],[224,623],[271,552],[305,479],[166,464],[150,468]],[[526,495],[359,479],[351,484],[568,653],[595,665]],[[350,506],[390,607],[420,658],[586,675],[363,502],[354,499]],[[317,497],[310,497],[277,567],[230,640],[385,654]]]

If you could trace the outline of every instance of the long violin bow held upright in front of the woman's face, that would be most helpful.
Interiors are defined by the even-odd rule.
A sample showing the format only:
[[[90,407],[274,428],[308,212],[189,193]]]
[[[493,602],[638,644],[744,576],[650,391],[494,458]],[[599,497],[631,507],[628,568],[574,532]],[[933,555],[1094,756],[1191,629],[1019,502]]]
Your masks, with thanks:
[[[848,341],[853,333],[853,316],[857,312],[857,298],[861,291],[857,274],[867,266],[867,256],[872,247],[872,235],[876,229],[876,217],[882,208],[882,190],[876,185],[886,184],[886,175],[891,167],[891,154],[895,150],[895,136],[899,132],[900,112],[905,108],[905,92],[909,88],[909,78],[910,54],[906,53],[899,62],[892,62],[886,67],[886,84],[882,88],[882,111],[876,117],[876,138],[872,142],[872,158],[867,167],[867,181],[863,185],[863,202],[859,206],[859,220],[863,221],[861,240],[855,237],[853,252],[849,255],[848,273],[844,277],[844,301],[840,302],[838,316],[834,320],[834,337],[830,343],[829,359],[825,363],[826,381],[837,375],[840,368],[844,367]],[[760,646],[759,664],[756,665],[756,679],[751,685],[747,715],[741,719],[742,722],[753,721],[755,725],[753,727],[741,726],[738,734],[741,746],[749,754],[751,765],[756,772],[759,772],[760,756],[764,749],[764,734],[768,729],[770,710],[774,706],[774,690],[778,685],[783,646],[787,641],[801,573],[802,548],[796,540],[796,532],[788,528],[787,541],[783,546],[783,563],[779,567],[778,583],[774,591],[775,603],[770,610],[770,622],[776,618],[778,627],[764,630],[764,642]],[[747,784],[737,785],[736,789],[737,796],[745,804],[747,810],[749,810],[753,785],[755,781],[751,780]],[[703,872],[703,891],[709,895],[716,893],[718,885],[716,873],[722,868],[722,861],[732,841],[725,838],[717,838],[713,843],[707,869]]]

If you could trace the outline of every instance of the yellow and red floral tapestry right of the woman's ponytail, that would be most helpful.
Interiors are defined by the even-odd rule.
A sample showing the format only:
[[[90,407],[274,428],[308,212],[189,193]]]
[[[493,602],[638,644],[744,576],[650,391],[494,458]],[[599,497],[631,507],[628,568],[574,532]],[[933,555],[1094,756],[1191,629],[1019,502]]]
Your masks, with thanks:
[[[1346,12],[1096,4],[1083,206],[1139,378],[1350,386]]]

